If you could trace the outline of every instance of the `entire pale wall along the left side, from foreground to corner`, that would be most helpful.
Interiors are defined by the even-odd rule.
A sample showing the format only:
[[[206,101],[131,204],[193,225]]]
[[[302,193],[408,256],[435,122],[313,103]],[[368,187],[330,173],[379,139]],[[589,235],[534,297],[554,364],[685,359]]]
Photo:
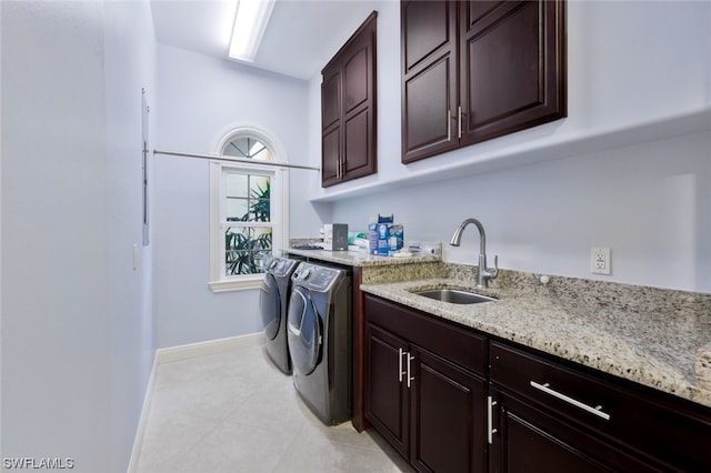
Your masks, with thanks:
[[[126,471],[152,358],[147,2],[2,2],[2,456]]]

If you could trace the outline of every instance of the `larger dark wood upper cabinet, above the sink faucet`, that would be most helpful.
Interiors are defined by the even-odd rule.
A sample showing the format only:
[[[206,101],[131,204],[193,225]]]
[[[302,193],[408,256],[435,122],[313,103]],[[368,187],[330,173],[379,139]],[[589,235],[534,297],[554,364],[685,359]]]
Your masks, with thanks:
[[[567,115],[555,1],[402,1],[402,162]]]

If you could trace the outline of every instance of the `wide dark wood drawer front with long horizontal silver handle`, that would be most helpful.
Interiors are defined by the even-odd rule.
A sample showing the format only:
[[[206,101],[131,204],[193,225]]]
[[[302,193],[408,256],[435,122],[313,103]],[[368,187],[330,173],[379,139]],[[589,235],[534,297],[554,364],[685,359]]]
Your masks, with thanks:
[[[491,341],[489,356],[492,383],[551,415],[667,470],[711,472],[708,407],[509,343]]]

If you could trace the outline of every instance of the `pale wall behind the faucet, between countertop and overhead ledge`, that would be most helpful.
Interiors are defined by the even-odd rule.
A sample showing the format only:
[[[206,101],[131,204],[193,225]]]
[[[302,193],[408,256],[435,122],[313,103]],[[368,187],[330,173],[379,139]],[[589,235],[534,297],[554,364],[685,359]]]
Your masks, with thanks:
[[[711,133],[549,161],[334,204],[363,229],[394,212],[405,239],[439,240],[444,258],[477,264],[474,217],[489,264],[537,273],[711,292]],[[590,249],[612,249],[612,275],[590,274]]]

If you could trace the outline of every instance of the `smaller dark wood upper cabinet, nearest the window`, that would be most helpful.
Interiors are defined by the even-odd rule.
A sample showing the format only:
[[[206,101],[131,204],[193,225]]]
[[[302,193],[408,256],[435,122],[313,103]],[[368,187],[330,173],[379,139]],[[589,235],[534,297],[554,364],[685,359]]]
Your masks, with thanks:
[[[377,172],[373,11],[321,71],[321,185]]]

